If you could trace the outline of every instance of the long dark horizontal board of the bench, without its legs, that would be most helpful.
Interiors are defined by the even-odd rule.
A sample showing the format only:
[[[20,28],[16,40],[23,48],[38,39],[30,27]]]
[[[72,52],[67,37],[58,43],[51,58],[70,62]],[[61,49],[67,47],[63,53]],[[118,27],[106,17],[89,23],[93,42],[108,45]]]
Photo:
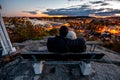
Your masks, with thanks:
[[[25,59],[32,59],[33,56],[38,60],[52,60],[52,61],[80,61],[80,60],[94,60],[101,59],[104,54],[98,51],[81,52],[81,53],[54,53],[48,51],[30,51],[21,53]]]

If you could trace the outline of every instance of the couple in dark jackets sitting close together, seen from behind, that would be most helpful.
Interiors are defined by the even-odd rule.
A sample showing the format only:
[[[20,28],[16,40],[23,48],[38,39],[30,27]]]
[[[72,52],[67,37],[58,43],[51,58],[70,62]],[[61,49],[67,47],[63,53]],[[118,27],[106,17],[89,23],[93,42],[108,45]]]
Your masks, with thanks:
[[[86,45],[83,38],[77,38],[75,32],[61,26],[59,36],[48,38],[47,48],[50,52],[84,52]]]

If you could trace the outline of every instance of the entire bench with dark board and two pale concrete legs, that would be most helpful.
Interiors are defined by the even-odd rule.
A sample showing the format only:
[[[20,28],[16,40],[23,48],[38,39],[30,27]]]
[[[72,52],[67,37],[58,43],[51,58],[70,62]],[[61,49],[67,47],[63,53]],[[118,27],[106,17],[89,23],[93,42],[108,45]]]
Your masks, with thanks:
[[[81,52],[81,53],[54,53],[45,51],[30,51],[21,53],[24,59],[33,59],[35,74],[42,73],[44,64],[79,64],[82,74],[89,75],[91,71],[91,61],[101,59],[104,54],[98,51]],[[38,63],[38,60],[40,63]]]

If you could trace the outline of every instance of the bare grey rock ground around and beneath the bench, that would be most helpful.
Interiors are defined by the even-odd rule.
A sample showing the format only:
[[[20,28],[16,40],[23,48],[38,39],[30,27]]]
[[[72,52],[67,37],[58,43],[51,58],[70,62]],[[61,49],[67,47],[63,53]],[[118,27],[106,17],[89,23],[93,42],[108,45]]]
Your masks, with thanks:
[[[20,46],[21,52],[46,49],[45,40],[29,40],[23,43],[14,43]],[[89,49],[88,49],[89,50]],[[0,80],[120,80],[120,55],[96,48],[105,56],[92,62],[92,73],[89,76],[81,74],[79,65],[45,65],[43,73],[35,75],[34,61],[17,58],[0,68]]]

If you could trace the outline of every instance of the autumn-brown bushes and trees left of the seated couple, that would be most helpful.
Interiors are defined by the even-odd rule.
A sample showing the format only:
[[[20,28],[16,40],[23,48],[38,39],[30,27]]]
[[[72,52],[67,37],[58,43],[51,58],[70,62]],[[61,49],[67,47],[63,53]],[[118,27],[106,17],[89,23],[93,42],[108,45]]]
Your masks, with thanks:
[[[30,21],[11,19],[9,21],[14,27],[8,27],[7,31],[11,42],[23,42],[25,40],[38,40],[44,36],[57,35],[58,29],[47,31],[41,25],[33,25]]]

